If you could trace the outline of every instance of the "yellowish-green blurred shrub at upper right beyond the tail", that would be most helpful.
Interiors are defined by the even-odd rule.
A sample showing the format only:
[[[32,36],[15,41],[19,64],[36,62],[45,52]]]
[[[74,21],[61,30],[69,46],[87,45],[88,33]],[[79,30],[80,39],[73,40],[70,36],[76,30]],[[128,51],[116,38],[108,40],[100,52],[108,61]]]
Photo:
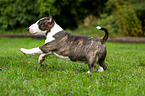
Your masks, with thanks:
[[[118,31],[127,36],[143,36],[141,22],[130,2],[126,0],[109,0],[107,7],[113,12],[111,15],[114,15]]]

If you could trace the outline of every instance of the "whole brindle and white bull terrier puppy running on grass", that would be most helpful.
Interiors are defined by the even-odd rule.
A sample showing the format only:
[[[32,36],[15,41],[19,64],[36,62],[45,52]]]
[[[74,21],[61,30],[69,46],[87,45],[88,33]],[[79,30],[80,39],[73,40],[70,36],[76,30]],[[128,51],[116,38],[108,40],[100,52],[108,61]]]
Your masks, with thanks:
[[[98,63],[98,71],[103,72],[107,68],[104,60],[106,57],[105,42],[108,39],[108,30],[100,26],[96,28],[105,31],[103,39],[97,40],[92,37],[72,35],[57,25],[49,12],[49,17],[39,19],[29,27],[30,33],[46,36],[45,44],[37,48],[21,48],[20,50],[24,54],[41,54],[38,60],[40,64],[42,64],[46,56],[54,54],[66,60],[87,63],[89,66],[87,73],[97,71],[96,63]]]

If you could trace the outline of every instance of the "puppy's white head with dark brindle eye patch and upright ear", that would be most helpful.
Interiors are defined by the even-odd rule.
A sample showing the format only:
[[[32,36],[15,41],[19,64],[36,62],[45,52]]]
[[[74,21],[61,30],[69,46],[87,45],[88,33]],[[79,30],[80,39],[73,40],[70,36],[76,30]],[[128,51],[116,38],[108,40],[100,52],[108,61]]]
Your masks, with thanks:
[[[36,23],[32,24],[28,30],[34,35],[47,35],[53,26],[54,20],[52,19],[52,15],[49,11],[49,17],[39,19]]]

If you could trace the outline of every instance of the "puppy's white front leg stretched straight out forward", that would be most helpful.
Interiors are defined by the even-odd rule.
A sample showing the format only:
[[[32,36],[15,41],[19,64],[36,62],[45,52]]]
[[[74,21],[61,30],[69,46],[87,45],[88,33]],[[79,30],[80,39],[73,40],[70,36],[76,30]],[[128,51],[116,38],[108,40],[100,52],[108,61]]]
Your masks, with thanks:
[[[21,50],[21,52],[24,53],[24,54],[31,54],[31,55],[43,53],[43,52],[40,50],[39,47],[37,47],[37,48],[32,48],[32,49],[21,48],[20,50]]]

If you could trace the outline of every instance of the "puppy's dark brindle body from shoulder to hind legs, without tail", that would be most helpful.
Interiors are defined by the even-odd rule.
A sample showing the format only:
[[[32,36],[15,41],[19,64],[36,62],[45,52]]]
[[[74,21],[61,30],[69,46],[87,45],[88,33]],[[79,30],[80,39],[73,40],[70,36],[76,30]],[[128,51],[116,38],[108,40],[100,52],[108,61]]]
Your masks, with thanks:
[[[55,52],[59,55],[68,56],[71,61],[87,63],[90,70],[97,71],[98,62],[105,70],[106,46],[100,40],[92,37],[76,36],[65,31],[54,35],[55,40],[41,46],[44,53]]]

